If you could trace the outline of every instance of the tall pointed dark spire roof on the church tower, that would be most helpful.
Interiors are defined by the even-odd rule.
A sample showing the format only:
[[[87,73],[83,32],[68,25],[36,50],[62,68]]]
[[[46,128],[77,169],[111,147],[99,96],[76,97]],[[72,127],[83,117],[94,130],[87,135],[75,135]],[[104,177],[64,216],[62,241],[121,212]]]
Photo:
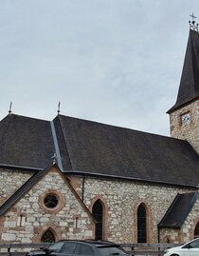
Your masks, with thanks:
[[[190,30],[177,101],[168,113],[196,98],[199,98],[199,33]]]

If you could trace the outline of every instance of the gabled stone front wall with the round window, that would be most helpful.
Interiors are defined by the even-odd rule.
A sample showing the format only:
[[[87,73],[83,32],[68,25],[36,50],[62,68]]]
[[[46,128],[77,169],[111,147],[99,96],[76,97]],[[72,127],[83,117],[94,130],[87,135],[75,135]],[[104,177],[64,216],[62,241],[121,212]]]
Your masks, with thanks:
[[[52,209],[44,204],[49,193],[59,198]],[[0,228],[1,243],[40,243],[47,229],[56,240],[93,238],[94,223],[62,175],[52,170],[0,218]]]

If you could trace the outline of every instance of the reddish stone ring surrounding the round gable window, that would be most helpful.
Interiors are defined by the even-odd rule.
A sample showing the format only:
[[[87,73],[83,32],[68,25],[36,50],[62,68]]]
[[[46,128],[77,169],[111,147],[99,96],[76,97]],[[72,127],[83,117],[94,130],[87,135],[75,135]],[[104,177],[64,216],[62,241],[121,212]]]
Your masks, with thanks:
[[[45,207],[45,197],[49,194],[54,194],[58,198],[59,202],[58,202],[57,207],[54,207],[54,208]],[[63,206],[65,205],[65,201],[64,201],[64,198],[63,198],[63,195],[61,194],[61,192],[59,192],[58,190],[55,190],[55,189],[48,189],[45,191],[44,194],[39,196],[38,204],[45,211],[45,213],[53,214],[53,213],[59,212],[63,208]]]

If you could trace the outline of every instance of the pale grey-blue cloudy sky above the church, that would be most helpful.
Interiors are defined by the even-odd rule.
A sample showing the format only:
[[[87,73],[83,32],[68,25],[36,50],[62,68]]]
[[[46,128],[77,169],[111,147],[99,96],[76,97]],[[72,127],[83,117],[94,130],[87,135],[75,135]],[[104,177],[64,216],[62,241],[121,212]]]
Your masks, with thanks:
[[[0,0],[0,119],[63,115],[168,136],[198,0]]]

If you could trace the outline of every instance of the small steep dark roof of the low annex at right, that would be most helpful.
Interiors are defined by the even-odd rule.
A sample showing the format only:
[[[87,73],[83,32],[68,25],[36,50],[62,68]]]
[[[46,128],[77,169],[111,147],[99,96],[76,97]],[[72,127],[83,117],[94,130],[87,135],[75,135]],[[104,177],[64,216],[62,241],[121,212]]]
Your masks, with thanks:
[[[180,228],[197,199],[198,192],[177,194],[171,207],[157,226],[159,228]]]

